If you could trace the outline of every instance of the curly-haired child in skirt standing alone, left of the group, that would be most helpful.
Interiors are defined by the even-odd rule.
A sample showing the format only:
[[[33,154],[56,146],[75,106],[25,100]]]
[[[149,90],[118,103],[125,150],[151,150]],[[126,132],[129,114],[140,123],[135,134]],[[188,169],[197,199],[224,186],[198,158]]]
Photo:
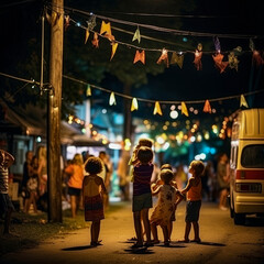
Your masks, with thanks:
[[[91,221],[91,246],[100,245],[98,241],[101,219],[105,219],[102,193],[107,194],[103,179],[98,176],[102,170],[102,162],[99,157],[89,157],[85,164],[88,175],[82,182],[82,200],[85,207],[85,220]]]

